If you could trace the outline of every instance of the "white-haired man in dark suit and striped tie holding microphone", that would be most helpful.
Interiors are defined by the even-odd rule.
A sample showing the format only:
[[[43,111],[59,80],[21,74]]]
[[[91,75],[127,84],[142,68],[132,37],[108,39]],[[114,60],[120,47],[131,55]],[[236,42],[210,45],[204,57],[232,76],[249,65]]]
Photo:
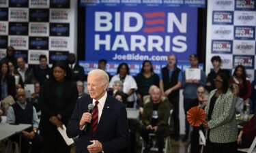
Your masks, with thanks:
[[[126,107],[106,93],[109,76],[105,71],[90,71],[87,82],[89,95],[77,101],[68,123],[68,137],[79,135],[77,153],[120,152],[130,139]],[[91,103],[94,110],[89,114]],[[91,123],[87,131],[86,123]]]

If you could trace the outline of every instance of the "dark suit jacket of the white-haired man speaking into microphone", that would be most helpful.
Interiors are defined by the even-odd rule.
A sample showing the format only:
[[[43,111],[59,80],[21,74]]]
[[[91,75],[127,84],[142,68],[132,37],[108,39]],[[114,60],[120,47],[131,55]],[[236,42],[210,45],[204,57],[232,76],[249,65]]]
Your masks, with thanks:
[[[68,137],[79,135],[76,153],[87,153],[87,146],[91,144],[89,140],[93,139],[102,143],[104,153],[120,152],[119,150],[122,150],[122,148],[128,145],[130,139],[125,105],[110,95],[107,95],[96,135],[92,137],[91,130],[84,132],[79,129],[81,116],[83,113],[88,112],[89,103],[92,103],[89,95],[81,97],[77,101],[70,122],[68,123]]]

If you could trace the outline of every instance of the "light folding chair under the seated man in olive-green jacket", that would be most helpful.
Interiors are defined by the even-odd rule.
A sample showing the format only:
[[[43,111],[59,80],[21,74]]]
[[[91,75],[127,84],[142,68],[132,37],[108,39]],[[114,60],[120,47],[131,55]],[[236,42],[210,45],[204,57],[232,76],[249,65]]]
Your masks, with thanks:
[[[173,109],[170,110],[170,117],[168,120],[169,126],[171,124],[171,115],[172,114],[173,114]],[[149,136],[150,136],[150,139],[154,139],[154,137],[156,137],[156,135],[154,133],[150,133]],[[145,143],[144,143],[144,141],[142,141],[141,153],[143,153],[144,149],[145,149]],[[165,147],[163,148],[163,152],[169,153],[170,150],[171,150],[171,139],[170,139],[169,135],[165,135]],[[156,146],[156,141],[153,141],[153,146],[150,149],[150,152],[158,152],[158,148]]]

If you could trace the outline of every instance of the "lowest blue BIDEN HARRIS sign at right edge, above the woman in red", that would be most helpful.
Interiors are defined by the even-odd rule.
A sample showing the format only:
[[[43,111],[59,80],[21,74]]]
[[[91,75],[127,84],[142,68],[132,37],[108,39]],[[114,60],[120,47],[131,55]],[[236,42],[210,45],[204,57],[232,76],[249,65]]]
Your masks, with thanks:
[[[254,69],[254,58],[250,55],[233,55],[233,68],[242,65],[246,69]]]

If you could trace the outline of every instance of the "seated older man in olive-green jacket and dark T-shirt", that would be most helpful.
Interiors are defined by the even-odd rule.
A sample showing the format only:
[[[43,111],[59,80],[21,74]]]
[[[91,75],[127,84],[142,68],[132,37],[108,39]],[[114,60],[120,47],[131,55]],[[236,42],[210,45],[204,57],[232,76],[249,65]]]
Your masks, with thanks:
[[[161,100],[162,92],[160,88],[154,88],[151,94],[150,103],[144,106],[142,116],[143,125],[141,126],[141,137],[145,141],[144,153],[150,152],[152,141],[150,141],[149,133],[156,133],[156,144],[158,153],[162,152],[164,147],[164,136],[169,133],[168,119],[170,116],[170,103],[168,99]]]

